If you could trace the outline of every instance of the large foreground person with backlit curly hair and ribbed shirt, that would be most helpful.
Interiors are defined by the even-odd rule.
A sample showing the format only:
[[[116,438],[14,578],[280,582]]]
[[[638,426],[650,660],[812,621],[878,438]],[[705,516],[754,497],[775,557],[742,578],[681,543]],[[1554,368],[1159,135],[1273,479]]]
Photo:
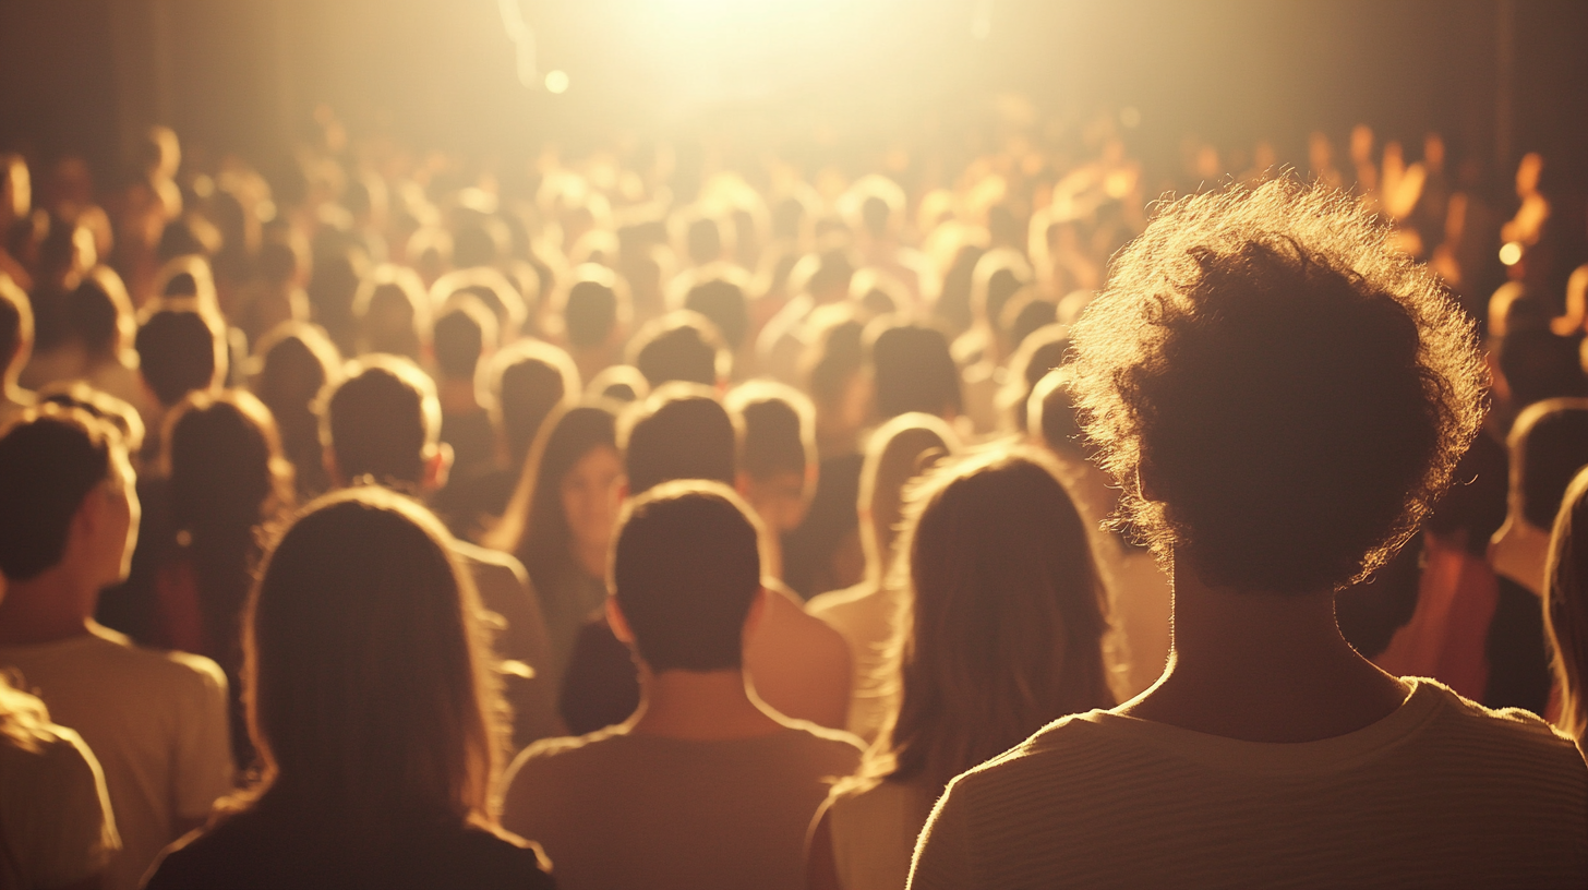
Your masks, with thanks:
[[[1386,245],[1348,195],[1277,180],[1167,205],[1116,256],[1075,393],[1174,564],[1170,666],[954,779],[910,887],[1588,880],[1571,741],[1336,625],[1480,423],[1470,324]]]

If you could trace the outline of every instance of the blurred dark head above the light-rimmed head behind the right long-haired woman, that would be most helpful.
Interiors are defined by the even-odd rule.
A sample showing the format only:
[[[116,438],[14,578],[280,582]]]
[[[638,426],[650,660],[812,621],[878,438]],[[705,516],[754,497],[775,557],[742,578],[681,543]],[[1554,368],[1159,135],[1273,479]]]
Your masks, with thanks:
[[[964,410],[959,367],[935,327],[878,318],[865,331],[877,416],[907,412],[953,418]]]

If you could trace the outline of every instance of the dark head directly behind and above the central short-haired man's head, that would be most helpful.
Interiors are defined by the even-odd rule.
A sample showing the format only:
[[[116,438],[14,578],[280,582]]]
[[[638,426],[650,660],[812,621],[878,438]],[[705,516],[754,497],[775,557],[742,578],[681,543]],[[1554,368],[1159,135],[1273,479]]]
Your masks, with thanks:
[[[629,493],[642,494],[675,478],[734,485],[738,431],[711,389],[669,383],[632,405],[618,424]]]

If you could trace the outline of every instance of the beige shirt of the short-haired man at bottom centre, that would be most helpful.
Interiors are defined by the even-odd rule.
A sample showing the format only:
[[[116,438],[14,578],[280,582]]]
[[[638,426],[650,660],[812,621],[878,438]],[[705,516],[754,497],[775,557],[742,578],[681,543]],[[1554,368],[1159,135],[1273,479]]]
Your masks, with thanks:
[[[859,760],[851,736],[805,722],[724,741],[608,726],[521,753],[502,826],[546,850],[561,890],[800,890],[816,807]]]

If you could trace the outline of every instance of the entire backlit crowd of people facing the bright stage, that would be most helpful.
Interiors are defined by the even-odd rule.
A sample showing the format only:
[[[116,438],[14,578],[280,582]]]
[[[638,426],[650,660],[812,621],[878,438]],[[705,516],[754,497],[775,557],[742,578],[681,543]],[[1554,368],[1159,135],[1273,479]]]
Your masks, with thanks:
[[[0,156],[0,887],[1588,882],[1542,157],[319,122]]]

